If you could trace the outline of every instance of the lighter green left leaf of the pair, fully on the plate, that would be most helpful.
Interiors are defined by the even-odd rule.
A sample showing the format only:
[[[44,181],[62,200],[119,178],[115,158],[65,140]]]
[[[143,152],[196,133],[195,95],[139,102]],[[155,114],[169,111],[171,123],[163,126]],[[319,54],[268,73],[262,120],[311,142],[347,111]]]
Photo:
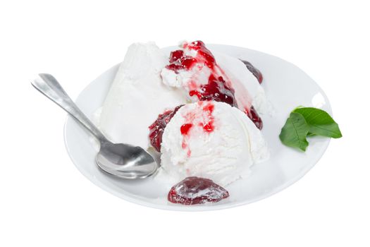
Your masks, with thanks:
[[[309,144],[306,139],[309,128],[302,114],[292,112],[281,129],[279,138],[288,147],[298,147],[300,150],[306,151]]]

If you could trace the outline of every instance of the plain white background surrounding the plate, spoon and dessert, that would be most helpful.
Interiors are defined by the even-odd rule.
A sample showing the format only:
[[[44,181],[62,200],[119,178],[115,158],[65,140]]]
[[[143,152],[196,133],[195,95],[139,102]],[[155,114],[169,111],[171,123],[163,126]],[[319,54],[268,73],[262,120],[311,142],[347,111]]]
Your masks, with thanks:
[[[370,8],[366,1],[1,1],[0,246],[369,246]],[[75,98],[132,42],[233,44],[280,56],[331,100],[343,138],[271,198],[167,212],[102,191],[73,166],[66,113],[30,85],[51,73]]]

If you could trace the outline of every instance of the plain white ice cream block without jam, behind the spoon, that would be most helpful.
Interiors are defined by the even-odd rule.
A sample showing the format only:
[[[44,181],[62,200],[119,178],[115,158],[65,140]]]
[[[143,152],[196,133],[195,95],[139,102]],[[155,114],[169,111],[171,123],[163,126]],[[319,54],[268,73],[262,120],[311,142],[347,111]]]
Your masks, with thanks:
[[[186,102],[183,92],[164,85],[168,58],[154,43],[128,47],[101,109],[99,127],[116,143],[149,147],[149,129],[158,114]]]

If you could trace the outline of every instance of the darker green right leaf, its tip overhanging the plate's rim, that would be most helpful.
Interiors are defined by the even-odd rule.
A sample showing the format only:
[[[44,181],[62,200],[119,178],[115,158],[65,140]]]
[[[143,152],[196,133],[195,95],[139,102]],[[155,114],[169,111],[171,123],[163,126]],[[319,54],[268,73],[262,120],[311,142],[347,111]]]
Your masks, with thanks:
[[[293,112],[304,116],[309,125],[309,135],[323,135],[331,138],[342,137],[338,123],[335,123],[327,112],[314,107],[296,108]]]

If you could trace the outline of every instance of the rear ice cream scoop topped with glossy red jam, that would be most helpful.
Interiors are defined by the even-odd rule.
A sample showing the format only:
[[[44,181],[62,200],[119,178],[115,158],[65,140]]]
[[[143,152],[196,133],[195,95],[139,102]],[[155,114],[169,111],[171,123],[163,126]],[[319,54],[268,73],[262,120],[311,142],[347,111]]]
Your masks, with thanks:
[[[161,71],[164,84],[183,89],[192,102],[215,100],[238,107],[262,128],[257,112],[268,111],[264,89],[242,61],[212,53],[201,41],[183,42],[179,48]]]

